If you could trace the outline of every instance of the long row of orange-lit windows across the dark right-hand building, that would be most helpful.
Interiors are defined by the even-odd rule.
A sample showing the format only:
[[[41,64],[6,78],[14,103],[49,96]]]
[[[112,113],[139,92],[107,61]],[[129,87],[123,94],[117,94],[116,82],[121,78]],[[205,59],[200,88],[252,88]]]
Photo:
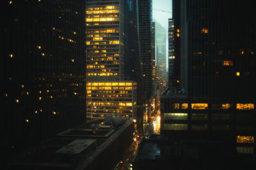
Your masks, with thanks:
[[[212,104],[212,108],[217,109],[216,105],[220,105],[219,109],[223,110],[228,110],[232,107],[232,104]],[[180,107],[181,106],[181,107]],[[179,110],[179,109],[185,110],[188,109],[188,103],[175,103],[174,104],[174,109]],[[192,110],[206,110],[208,109],[208,103],[191,103],[191,109]],[[237,110],[254,110],[254,104],[253,103],[237,103],[236,104],[236,109]]]

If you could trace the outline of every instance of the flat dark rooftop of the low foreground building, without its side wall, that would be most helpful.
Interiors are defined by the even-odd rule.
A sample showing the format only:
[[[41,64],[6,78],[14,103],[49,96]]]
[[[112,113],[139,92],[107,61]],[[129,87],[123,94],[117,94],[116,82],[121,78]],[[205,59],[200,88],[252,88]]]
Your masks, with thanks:
[[[61,132],[39,145],[13,157],[13,169],[75,169],[81,162],[98,155],[114,136],[122,132],[131,120],[125,120],[118,128],[84,129],[104,120],[90,121],[74,129]],[[106,135],[107,134],[107,135]],[[90,161],[86,161],[87,163]],[[87,164],[86,163],[86,164]]]

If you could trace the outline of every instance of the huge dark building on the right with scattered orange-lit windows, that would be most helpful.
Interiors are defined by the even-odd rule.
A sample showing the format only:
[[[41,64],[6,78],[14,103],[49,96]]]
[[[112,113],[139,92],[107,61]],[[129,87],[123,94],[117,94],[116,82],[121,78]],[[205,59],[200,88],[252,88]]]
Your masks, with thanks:
[[[166,90],[161,100],[161,134],[166,138],[218,141],[227,143],[227,150],[255,153],[252,3],[173,1],[180,85]]]

